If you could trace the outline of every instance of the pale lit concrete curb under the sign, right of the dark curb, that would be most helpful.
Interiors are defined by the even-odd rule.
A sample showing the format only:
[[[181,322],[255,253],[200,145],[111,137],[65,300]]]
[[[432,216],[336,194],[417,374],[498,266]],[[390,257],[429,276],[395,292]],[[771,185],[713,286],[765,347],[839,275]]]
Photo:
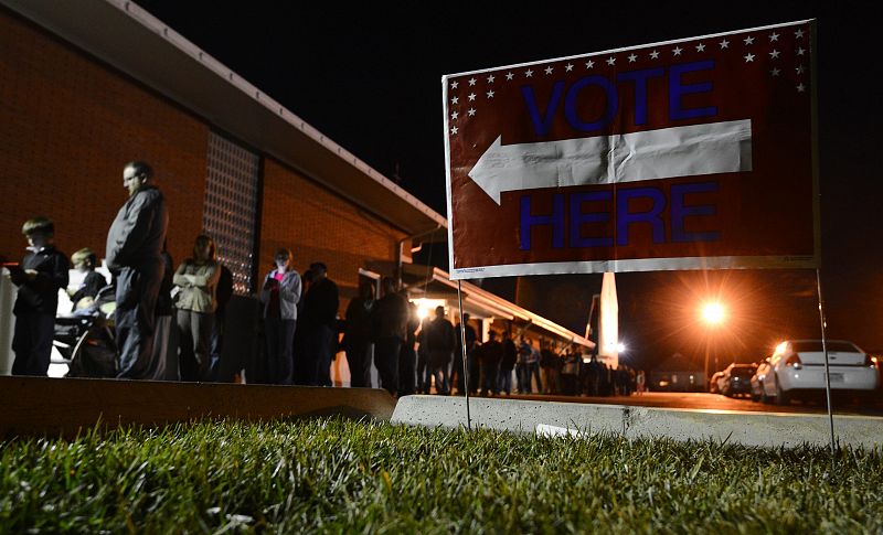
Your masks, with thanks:
[[[746,413],[591,405],[521,399],[471,398],[472,426],[515,432],[573,435],[624,434],[628,438],[666,437],[674,440],[714,440],[744,446],[828,446],[827,415]],[[466,427],[466,399],[445,396],[405,396],[398,399],[393,424]],[[883,446],[883,418],[834,416],[840,446]]]

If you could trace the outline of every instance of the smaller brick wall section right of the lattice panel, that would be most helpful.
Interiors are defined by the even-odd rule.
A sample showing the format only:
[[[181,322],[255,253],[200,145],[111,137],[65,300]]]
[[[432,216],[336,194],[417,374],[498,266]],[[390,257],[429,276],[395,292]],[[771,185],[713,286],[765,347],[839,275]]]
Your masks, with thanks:
[[[328,266],[328,277],[340,287],[342,315],[355,295],[359,268],[366,261],[395,261],[397,242],[404,237],[317,183],[265,160],[258,285],[272,269],[276,249],[288,247],[301,274],[313,261]]]

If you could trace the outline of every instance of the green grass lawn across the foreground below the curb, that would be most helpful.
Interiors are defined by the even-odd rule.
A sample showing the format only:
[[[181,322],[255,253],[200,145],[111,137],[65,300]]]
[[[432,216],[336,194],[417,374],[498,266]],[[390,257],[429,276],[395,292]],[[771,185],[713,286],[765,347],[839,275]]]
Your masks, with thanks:
[[[881,533],[883,456],[341,419],[0,442],[0,533]]]

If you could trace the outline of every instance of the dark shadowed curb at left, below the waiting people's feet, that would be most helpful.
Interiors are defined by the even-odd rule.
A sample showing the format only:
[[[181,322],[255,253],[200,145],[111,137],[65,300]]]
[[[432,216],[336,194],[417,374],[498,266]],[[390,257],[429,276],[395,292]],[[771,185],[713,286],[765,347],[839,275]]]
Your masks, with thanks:
[[[75,436],[106,428],[201,418],[273,420],[344,416],[386,421],[395,399],[376,388],[0,377],[0,437]]]

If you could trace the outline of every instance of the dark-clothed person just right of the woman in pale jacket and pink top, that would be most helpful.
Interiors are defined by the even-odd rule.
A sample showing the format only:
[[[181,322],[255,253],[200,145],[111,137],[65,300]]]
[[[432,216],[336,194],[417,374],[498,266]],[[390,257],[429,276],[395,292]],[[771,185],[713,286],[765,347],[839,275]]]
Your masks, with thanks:
[[[337,347],[337,321],[340,297],[338,285],[328,278],[328,267],[320,263],[310,264],[312,282],[304,297],[305,353],[301,370],[304,381],[310,386],[331,386],[331,356]]]

